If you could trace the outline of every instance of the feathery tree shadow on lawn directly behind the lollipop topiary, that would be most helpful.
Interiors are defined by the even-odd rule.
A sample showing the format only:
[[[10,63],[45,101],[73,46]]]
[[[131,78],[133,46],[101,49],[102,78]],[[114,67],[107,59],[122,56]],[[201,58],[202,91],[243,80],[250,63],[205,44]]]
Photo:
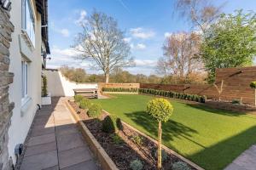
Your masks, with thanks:
[[[132,122],[137,123],[140,127],[143,127],[147,132],[151,133],[154,137],[157,137],[158,123],[144,111],[137,111],[132,113],[125,113],[125,116],[129,117]],[[183,125],[180,122],[168,121],[163,122],[162,125],[162,138],[166,141],[173,140],[173,138],[185,138],[189,139],[193,133],[197,133],[196,130]],[[191,140],[191,139],[189,139]],[[192,141],[195,143],[195,141]],[[201,144],[200,144],[201,145]]]

